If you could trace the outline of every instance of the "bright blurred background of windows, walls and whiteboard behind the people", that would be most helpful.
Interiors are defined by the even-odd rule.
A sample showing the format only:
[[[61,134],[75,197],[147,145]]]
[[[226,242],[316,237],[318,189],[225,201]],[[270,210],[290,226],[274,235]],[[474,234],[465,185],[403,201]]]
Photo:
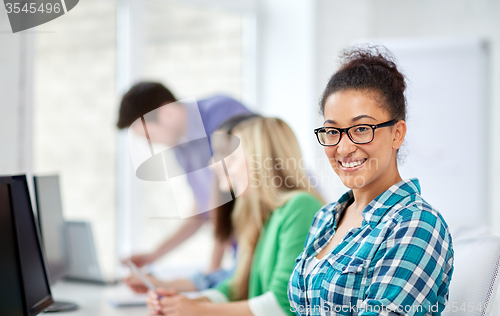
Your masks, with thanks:
[[[420,179],[452,232],[499,235],[499,16],[496,0],[85,0],[12,34],[0,8],[0,174],[59,174],[65,216],[92,223],[115,273],[117,258],[175,231],[166,214],[192,205],[135,177],[115,127],[123,93],[154,80],[178,99],[224,93],[284,119],[335,201],[345,188],[312,132],[318,100],[343,49],[378,43],[408,78],[403,176]],[[205,226],[165,262],[208,263]]]

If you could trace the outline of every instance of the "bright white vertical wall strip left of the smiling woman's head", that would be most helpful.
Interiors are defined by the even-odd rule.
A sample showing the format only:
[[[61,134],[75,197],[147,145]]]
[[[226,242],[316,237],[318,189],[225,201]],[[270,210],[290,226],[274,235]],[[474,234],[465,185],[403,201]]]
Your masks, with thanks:
[[[257,109],[285,120],[314,159],[315,14],[310,0],[263,0],[257,8]]]

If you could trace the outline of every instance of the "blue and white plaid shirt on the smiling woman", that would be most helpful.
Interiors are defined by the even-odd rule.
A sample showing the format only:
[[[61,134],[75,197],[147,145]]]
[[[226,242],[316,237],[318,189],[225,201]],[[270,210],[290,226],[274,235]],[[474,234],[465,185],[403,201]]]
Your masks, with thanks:
[[[316,214],[288,284],[297,315],[440,315],[453,272],[451,236],[441,214],[403,180],[363,210],[361,227],[307,274],[305,265],[335,234],[352,191]]]

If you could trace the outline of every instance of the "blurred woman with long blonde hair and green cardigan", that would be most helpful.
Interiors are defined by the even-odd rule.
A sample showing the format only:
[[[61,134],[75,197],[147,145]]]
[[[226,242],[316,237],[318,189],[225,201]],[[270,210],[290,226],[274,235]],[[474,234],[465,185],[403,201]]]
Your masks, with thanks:
[[[238,243],[234,276],[202,297],[176,291],[149,293],[151,313],[160,315],[289,315],[286,287],[302,251],[321,197],[300,168],[302,155],[290,127],[280,119],[256,117],[235,126],[242,155],[226,159],[230,185],[238,196],[233,227]],[[221,190],[226,173],[216,169]],[[248,185],[248,186],[247,186]],[[159,299],[161,295],[162,298]]]

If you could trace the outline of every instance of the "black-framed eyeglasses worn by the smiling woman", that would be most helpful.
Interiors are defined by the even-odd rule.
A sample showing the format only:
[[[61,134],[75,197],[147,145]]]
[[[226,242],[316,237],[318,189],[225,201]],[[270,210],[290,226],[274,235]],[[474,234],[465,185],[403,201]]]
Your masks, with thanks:
[[[342,134],[346,133],[355,144],[368,144],[375,136],[375,130],[381,127],[393,126],[398,120],[390,120],[380,124],[358,124],[347,128],[319,127],[314,130],[318,142],[323,146],[335,146],[340,142]]]

